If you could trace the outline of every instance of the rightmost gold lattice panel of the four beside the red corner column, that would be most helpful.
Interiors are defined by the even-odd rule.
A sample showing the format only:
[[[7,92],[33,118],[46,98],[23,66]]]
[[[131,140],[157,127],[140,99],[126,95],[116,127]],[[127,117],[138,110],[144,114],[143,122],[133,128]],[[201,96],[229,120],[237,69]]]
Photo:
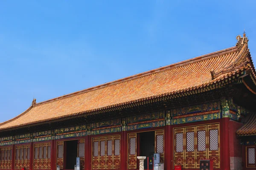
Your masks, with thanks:
[[[213,160],[213,168],[220,168],[220,137],[219,131],[220,126],[219,124],[211,124],[207,125],[208,133],[208,159]]]

